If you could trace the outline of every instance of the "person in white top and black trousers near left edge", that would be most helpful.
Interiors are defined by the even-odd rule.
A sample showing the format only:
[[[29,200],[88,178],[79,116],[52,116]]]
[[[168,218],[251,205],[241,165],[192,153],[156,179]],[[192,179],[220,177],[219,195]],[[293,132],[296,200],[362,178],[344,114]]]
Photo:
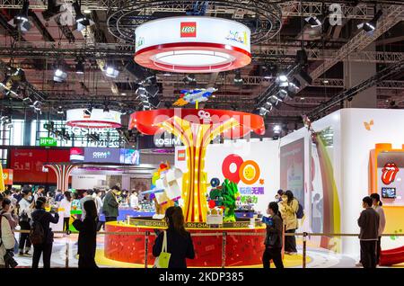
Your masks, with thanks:
[[[22,191],[22,200],[20,201],[20,210],[18,215],[20,217],[20,228],[21,230],[31,229],[31,202],[33,200],[31,188],[25,188]],[[31,239],[29,233],[20,234],[19,242],[20,255],[30,255],[31,250]]]

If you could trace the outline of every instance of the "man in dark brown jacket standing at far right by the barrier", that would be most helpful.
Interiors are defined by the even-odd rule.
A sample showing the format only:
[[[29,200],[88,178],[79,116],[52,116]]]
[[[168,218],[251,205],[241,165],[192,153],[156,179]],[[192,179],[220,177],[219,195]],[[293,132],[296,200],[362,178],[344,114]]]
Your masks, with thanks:
[[[362,210],[357,224],[361,228],[359,240],[361,243],[361,263],[364,268],[376,268],[376,243],[379,231],[379,214],[372,208],[371,197],[364,197]]]

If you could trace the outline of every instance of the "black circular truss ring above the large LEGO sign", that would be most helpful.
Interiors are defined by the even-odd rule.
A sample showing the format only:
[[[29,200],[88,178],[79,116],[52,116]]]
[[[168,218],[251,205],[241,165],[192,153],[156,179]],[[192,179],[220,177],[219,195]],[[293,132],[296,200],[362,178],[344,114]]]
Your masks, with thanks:
[[[216,18],[241,22],[251,31],[251,43],[272,39],[281,30],[282,11],[279,0],[139,0],[112,1],[108,10],[110,33],[125,42],[135,43],[136,28],[167,14],[215,15]]]

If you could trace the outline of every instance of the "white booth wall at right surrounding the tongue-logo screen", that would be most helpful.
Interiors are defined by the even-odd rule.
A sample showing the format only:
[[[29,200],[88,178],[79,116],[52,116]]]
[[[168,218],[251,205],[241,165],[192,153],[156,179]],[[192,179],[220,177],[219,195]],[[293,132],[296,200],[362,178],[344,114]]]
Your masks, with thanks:
[[[327,149],[338,189],[340,229],[342,233],[358,233],[357,218],[362,211],[362,199],[370,189],[370,151],[377,143],[391,143],[393,148],[401,148],[404,143],[404,111],[342,109],[312,122],[312,127],[316,132],[332,128],[332,147]],[[304,169],[311,170],[312,139],[307,129],[296,130],[285,136],[281,139],[281,146],[298,139],[304,139]],[[304,181],[306,186],[312,183],[310,172],[305,172]],[[305,196],[304,209],[309,218],[303,229],[312,231],[312,193],[305,192]],[[403,241],[395,239],[391,244],[389,237],[382,238],[382,248],[391,248],[393,245],[402,246]],[[343,238],[341,250],[344,254],[359,255],[358,238]]]

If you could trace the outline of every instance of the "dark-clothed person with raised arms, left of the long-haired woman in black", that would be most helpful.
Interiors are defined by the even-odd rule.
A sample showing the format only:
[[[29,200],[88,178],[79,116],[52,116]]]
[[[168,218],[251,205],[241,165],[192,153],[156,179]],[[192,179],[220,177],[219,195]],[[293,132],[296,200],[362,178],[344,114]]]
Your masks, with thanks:
[[[59,215],[54,210],[51,210],[55,214],[55,217],[45,210],[47,200],[45,197],[40,197],[35,203],[35,209],[32,214],[32,221],[34,223],[40,223],[44,232],[44,241],[41,244],[34,245],[34,253],[32,257],[32,268],[38,268],[40,264],[40,255],[42,255],[43,268],[50,268],[50,255],[52,255],[53,245],[53,232],[52,228],[49,228],[49,224],[57,223],[59,221]]]

